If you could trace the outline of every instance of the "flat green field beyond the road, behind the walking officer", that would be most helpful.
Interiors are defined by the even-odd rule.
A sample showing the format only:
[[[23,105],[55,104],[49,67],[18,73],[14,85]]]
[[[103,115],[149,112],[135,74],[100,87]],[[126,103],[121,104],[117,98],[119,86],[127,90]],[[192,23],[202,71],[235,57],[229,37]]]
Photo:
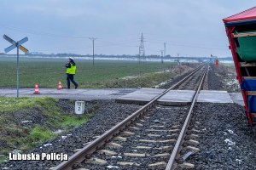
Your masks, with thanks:
[[[33,88],[38,82],[40,88],[57,88],[58,81],[66,85],[65,64],[67,59],[20,58],[20,87]],[[136,61],[101,61],[95,65],[90,60],[76,60],[75,80],[79,88],[137,88],[151,87],[166,81],[173,73],[156,73],[172,68],[176,63]],[[16,87],[15,58],[0,58],[0,88]],[[132,77],[132,78],[125,78]]]

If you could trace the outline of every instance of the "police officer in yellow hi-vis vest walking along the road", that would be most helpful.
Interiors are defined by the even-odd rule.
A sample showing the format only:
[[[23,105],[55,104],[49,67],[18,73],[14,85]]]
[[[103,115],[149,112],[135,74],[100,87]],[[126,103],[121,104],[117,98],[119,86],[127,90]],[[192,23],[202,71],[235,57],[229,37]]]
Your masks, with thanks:
[[[78,88],[78,83],[75,82],[73,80],[73,76],[76,74],[76,64],[75,62],[73,61],[73,57],[69,57],[68,58],[68,62],[66,64],[66,68],[67,68],[67,88],[70,88],[70,81],[73,82],[73,85],[75,86],[75,88]]]

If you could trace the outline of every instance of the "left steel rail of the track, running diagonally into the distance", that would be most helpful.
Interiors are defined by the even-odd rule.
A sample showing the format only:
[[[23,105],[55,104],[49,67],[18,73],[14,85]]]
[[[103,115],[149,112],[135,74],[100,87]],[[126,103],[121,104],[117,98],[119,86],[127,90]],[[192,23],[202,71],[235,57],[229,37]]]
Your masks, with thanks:
[[[181,81],[175,83],[172,85],[171,88],[166,89],[162,94],[157,95],[154,97],[154,99],[150,100],[147,105],[143,105],[142,108],[135,111],[131,114],[131,116],[128,116],[123,120],[122,122],[119,122],[117,125],[109,129],[107,132],[103,133],[100,137],[90,142],[90,144],[87,144],[73,154],[68,161],[63,161],[61,164],[56,166],[54,170],[71,170],[73,169],[74,164],[78,164],[85,159],[90,157],[90,154],[92,154],[97,148],[101,147],[103,144],[107,143],[110,139],[113,138],[113,136],[117,135],[120,130],[124,129],[127,125],[129,125],[131,122],[135,121],[137,117],[142,116],[144,112],[148,111],[151,107],[153,107],[157,101],[157,99],[160,99],[161,96],[168,93],[173,88],[177,88],[181,83],[186,81],[189,77],[195,74],[196,71],[199,71],[204,65],[200,65],[195,69],[195,71],[192,71],[188,76],[184,77]]]

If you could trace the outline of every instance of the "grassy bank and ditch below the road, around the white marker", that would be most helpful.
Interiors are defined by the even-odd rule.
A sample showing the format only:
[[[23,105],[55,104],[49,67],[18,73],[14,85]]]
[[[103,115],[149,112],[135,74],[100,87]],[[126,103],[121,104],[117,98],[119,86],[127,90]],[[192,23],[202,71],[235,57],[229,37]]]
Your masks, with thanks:
[[[63,105],[69,109],[63,109]],[[96,108],[95,104],[88,114],[78,116],[73,114],[73,101],[60,104],[51,98],[0,97],[0,162],[13,150],[31,150],[60,135],[54,133],[59,129],[65,132],[87,122]]]

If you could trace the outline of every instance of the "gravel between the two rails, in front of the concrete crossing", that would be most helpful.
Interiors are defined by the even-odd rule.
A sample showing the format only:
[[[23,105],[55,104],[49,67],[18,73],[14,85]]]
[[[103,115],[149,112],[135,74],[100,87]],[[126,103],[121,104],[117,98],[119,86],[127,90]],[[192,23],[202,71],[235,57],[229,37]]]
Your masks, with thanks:
[[[103,147],[102,150],[111,150],[116,154],[113,156],[105,155],[101,152],[96,152],[93,154],[93,158],[100,158],[106,160],[107,164],[105,165],[95,165],[85,163],[81,165],[81,168],[90,168],[90,169],[108,169],[108,167],[116,167],[119,169],[152,169],[148,167],[149,164],[154,164],[160,161],[165,161],[166,163],[169,160],[169,156],[157,156],[160,154],[168,154],[172,152],[172,149],[159,150],[160,147],[174,146],[175,142],[158,142],[158,141],[168,141],[170,139],[177,139],[177,135],[181,129],[179,125],[184,122],[186,113],[189,111],[188,106],[183,107],[162,107],[156,106],[152,110],[148,111],[146,116],[142,118],[143,122],[137,121],[140,123],[140,126],[137,126],[136,123],[133,123],[132,126],[137,127],[138,129],[132,129],[127,127],[125,131],[129,131],[132,134],[131,136],[125,137],[120,133],[120,137],[125,137],[126,141],[117,140],[113,141],[115,143],[121,144],[121,148],[109,148],[107,146]],[[148,130],[159,130],[158,132],[148,132]],[[166,132],[165,130],[177,130],[175,132]],[[161,132],[164,130],[164,132]],[[153,136],[148,136],[148,134]],[[156,136],[154,136],[156,135]],[[159,135],[159,136],[158,136]],[[154,140],[155,142],[146,142],[143,140]],[[137,149],[137,146],[147,146],[151,149]],[[145,156],[125,156],[125,153],[132,154],[143,154]],[[133,165],[121,166],[118,162],[132,162]],[[165,167],[154,167],[153,169],[165,169]]]

